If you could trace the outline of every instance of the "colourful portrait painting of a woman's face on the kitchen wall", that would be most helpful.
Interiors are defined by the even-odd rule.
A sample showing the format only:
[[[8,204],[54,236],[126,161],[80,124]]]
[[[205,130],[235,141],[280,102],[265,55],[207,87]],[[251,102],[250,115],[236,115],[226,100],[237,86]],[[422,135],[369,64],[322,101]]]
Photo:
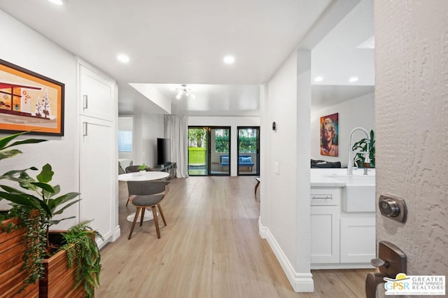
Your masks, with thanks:
[[[337,136],[339,113],[321,117],[321,155],[338,156]]]

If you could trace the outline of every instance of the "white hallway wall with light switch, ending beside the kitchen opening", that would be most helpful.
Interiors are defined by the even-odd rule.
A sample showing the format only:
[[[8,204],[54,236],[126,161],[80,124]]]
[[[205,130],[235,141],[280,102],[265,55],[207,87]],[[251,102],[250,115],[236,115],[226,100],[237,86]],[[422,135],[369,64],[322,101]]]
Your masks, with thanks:
[[[309,246],[309,173],[308,175],[304,173],[304,176],[308,176],[305,180],[297,181],[299,177],[297,166],[302,164],[302,160],[309,159],[310,63],[309,51],[293,52],[265,85],[261,104],[263,125],[268,127],[261,135],[264,165],[260,174],[262,184],[260,236],[267,239],[297,292],[314,290],[309,272],[309,247],[307,247]],[[307,87],[305,90],[299,90],[299,85]],[[306,97],[308,108],[299,111],[297,102]],[[297,119],[299,116],[304,117]],[[270,124],[274,121],[277,125],[276,132],[270,128]],[[299,124],[302,125],[302,121],[305,121],[302,127],[304,130],[299,132],[297,127]],[[304,139],[300,139],[302,137]],[[276,164],[279,169],[277,173]],[[309,170],[309,162],[305,169]],[[302,191],[303,186],[308,187],[308,190],[299,196],[298,192]],[[298,209],[302,210],[297,212]],[[304,225],[300,226],[302,223]],[[302,238],[304,234],[307,235]]]

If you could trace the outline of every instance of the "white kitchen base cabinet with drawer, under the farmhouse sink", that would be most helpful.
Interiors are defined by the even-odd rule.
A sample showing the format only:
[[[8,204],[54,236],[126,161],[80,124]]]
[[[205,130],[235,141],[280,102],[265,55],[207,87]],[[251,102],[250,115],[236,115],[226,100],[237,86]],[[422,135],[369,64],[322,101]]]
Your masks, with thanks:
[[[344,187],[311,187],[311,269],[371,268],[375,214],[344,212]]]

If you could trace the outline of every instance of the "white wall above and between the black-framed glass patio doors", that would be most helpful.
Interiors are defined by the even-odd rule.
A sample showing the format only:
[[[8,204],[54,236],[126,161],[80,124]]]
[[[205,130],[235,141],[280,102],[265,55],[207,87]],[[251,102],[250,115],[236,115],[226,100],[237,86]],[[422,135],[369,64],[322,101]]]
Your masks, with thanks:
[[[188,117],[189,126],[228,126],[230,127],[230,155],[237,156],[237,127],[260,126],[260,117]],[[261,131],[261,129],[260,129]],[[237,176],[237,160],[232,159],[230,165],[230,176]]]

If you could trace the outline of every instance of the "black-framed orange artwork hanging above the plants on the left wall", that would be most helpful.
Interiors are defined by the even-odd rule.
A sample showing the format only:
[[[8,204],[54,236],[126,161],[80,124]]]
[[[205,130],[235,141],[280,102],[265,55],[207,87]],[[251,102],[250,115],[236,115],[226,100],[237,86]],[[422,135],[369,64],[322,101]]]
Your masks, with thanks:
[[[0,59],[0,132],[64,135],[64,84]]]

